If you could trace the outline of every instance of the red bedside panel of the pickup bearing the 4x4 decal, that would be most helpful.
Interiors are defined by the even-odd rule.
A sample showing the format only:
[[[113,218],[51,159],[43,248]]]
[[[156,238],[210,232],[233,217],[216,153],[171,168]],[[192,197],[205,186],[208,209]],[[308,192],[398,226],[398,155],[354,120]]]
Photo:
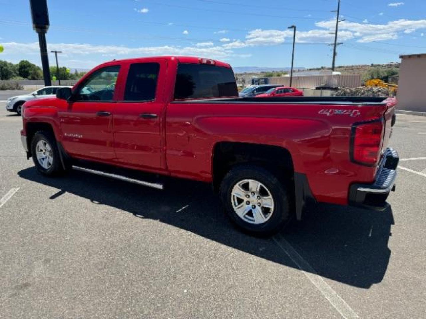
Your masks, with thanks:
[[[350,109],[357,116],[320,114]],[[210,181],[218,142],[248,142],[286,148],[296,172],[306,174],[318,201],[346,204],[349,185],[372,182],[376,168],[349,158],[351,125],[383,117],[386,106],[170,103],[166,159],[174,176]]]

